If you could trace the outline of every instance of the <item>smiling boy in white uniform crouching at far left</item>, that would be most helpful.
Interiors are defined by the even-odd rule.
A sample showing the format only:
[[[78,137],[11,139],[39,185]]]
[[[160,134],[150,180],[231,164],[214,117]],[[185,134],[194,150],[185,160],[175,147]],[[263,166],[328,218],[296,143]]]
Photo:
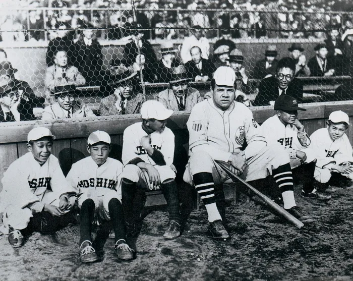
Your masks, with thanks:
[[[67,184],[58,159],[51,154],[54,139],[47,128],[32,129],[27,136],[29,152],[4,173],[1,231],[10,232],[8,240],[15,248],[21,247],[23,235],[32,231],[45,234],[57,230],[75,204],[76,189]]]

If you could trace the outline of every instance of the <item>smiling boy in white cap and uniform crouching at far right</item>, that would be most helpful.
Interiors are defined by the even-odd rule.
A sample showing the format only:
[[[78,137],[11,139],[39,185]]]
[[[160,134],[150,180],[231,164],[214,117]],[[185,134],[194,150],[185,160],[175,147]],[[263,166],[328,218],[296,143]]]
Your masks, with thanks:
[[[331,176],[336,182],[353,179],[353,150],[345,134],[348,126],[348,115],[341,110],[333,111],[326,128],[318,129],[310,136],[317,153],[315,179],[320,183],[327,183]]]

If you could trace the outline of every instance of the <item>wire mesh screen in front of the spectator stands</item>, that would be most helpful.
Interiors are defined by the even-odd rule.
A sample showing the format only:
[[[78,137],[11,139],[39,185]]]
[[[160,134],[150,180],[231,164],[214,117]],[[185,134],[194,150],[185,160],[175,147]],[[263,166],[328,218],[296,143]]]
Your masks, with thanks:
[[[220,66],[247,106],[353,99],[348,1],[26,3],[2,9],[1,122],[189,111]]]

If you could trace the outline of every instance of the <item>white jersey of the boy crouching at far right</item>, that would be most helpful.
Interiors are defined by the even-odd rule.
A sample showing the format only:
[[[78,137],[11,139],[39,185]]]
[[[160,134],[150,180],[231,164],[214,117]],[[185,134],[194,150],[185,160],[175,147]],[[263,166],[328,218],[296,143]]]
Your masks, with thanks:
[[[327,128],[316,130],[311,136],[312,147],[317,153],[318,167],[323,167],[330,162],[337,164],[352,161],[352,146],[346,134],[337,140],[332,140]]]

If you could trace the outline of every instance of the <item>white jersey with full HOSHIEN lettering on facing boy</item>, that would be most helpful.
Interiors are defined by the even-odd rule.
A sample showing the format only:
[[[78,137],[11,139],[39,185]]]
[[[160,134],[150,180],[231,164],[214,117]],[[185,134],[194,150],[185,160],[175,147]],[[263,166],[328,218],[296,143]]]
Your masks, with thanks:
[[[74,163],[66,179],[68,184],[77,188],[79,196],[83,193],[113,189],[121,195],[120,180],[123,164],[108,157],[104,164],[98,166],[91,156]],[[120,196],[121,199],[121,196]]]

